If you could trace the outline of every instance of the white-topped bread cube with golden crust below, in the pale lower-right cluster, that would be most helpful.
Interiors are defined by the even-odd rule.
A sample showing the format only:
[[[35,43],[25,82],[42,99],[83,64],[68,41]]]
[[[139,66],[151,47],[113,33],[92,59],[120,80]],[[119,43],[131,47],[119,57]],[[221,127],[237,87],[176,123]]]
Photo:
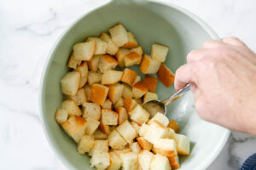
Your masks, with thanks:
[[[162,156],[177,156],[177,147],[173,139],[156,139],[154,151]]]

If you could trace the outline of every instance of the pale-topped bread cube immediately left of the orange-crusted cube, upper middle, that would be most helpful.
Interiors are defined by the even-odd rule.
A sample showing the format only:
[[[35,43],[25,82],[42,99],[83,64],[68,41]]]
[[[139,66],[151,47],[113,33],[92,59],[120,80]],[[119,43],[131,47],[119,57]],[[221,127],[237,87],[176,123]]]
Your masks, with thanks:
[[[121,80],[123,71],[108,70],[102,74],[102,84],[115,84]]]

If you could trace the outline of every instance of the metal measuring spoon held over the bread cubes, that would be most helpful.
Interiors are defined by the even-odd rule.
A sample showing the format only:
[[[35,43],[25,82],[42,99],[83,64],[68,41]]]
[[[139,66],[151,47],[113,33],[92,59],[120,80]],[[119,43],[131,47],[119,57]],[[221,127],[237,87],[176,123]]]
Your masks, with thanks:
[[[175,99],[178,99],[179,97],[183,96],[183,94],[186,94],[189,89],[190,84],[187,84],[185,88],[178,90],[175,94],[172,94],[172,96],[167,99],[164,99],[162,101],[156,99],[149,100],[148,102],[143,104],[143,108],[145,108],[151,116],[154,116],[157,112],[166,115],[166,105],[169,105]]]

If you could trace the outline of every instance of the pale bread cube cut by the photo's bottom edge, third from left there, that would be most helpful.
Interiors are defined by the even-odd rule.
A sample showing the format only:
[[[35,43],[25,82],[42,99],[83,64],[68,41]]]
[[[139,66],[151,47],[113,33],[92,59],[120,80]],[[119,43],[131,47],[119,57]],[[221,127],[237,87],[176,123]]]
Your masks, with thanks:
[[[138,161],[137,154],[134,152],[128,152],[120,155],[123,161],[123,170],[137,170]]]

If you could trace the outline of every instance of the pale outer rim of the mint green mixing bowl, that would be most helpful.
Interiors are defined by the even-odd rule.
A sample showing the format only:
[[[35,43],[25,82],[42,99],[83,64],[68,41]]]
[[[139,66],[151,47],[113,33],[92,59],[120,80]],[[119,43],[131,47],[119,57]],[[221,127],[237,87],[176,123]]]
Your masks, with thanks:
[[[44,92],[45,92],[44,89],[45,89],[45,78],[49,71],[49,63],[53,59],[52,56],[53,56],[53,54],[55,54],[56,47],[58,46],[58,44],[61,42],[64,35],[67,34],[68,31],[73,29],[73,27],[76,26],[76,24],[78,24],[79,21],[82,20],[86,15],[93,13],[95,10],[97,10],[99,8],[103,8],[104,6],[106,6],[110,3],[114,3],[114,1],[115,0],[109,0],[107,3],[102,3],[100,6],[88,10],[84,14],[80,15],[77,19],[75,19],[69,26],[67,26],[67,28],[64,31],[62,31],[61,35],[59,35],[59,37],[56,38],[53,46],[49,50],[49,53],[48,53],[46,59],[44,59],[43,71],[42,71],[41,77],[40,77],[39,93],[38,93],[39,94],[38,95],[38,98],[39,98],[38,99],[39,120],[42,124],[44,136],[49,144],[50,150],[52,150],[54,155],[57,156],[57,160],[59,160],[59,162],[61,163],[61,166],[64,167],[65,169],[75,169],[75,167],[73,167],[73,165],[71,163],[69,163],[69,161],[67,161],[67,159],[64,156],[62,156],[60,150],[56,149],[55,144],[54,144],[55,141],[52,139],[51,134],[49,133],[49,127],[45,126],[46,119],[44,117],[44,112],[45,112],[44,111],[45,110],[44,109]],[[199,18],[197,15],[191,13],[188,9],[179,7],[179,6],[177,6],[173,3],[169,3],[169,2],[166,3],[166,2],[156,1],[156,0],[148,0],[148,2],[162,4],[167,7],[177,9],[179,12],[186,14],[190,19],[194,20],[197,24],[199,24],[205,31],[207,31],[207,34],[210,37],[212,37],[212,39],[216,39],[216,40],[220,39],[218,37],[218,34],[215,31],[213,31],[212,27],[208,26],[205,21],[201,20],[201,18]],[[212,163],[212,161],[214,161],[216,159],[216,157],[218,156],[220,151],[223,150],[224,144],[226,144],[229,136],[230,136],[230,130],[227,128],[224,128],[224,133],[223,133],[222,137],[219,139],[219,141],[221,141],[221,142],[218,143],[218,150],[213,150],[211,153],[212,156],[208,156],[209,158],[207,160],[204,160],[203,163],[201,163],[201,166],[197,167],[197,169],[203,170],[203,169],[206,169],[207,167],[209,167],[209,165]]]

